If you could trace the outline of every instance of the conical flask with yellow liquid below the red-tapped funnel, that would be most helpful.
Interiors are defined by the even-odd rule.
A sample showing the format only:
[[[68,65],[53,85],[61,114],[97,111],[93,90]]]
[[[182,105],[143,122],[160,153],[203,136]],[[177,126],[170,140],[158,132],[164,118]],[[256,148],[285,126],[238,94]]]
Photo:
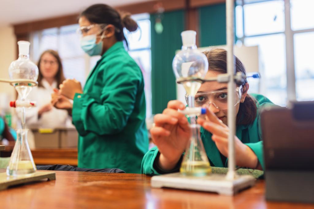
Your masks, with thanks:
[[[27,142],[27,132],[28,129],[17,130],[17,139],[7,167],[7,175],[9,176],[32,174],[36,171]]]

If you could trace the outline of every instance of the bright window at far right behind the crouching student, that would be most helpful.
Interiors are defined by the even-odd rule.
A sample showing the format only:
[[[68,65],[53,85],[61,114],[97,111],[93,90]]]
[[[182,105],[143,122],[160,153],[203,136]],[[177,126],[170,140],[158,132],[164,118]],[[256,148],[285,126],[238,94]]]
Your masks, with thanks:
[[[260,92],[275,104],[285,106],[288,99],[314,99],[310,91],[314,88],[314,23],[310,21],[314,18],[313,6],[311,0],[237,1],[237,44],[259,46],[260,70],[264,74]],[[289,22],[291,27],[286,28],[285,23]],[[294,50],[287,51],[286,47]],[[294,74],[295,80],[288,78]]]

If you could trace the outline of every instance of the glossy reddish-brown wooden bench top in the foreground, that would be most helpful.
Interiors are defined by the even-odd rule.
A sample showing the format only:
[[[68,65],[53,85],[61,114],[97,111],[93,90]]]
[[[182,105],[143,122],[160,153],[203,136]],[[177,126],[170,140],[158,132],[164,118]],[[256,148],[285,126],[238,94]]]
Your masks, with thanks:
[[[2,170],[4,172],[5,170]],[[314,208],[311,204],[268,202],[265,181],[236,196],[176,189],[153,189],[141,174],[56,171],[56,180],[0,191],[2,208]]]

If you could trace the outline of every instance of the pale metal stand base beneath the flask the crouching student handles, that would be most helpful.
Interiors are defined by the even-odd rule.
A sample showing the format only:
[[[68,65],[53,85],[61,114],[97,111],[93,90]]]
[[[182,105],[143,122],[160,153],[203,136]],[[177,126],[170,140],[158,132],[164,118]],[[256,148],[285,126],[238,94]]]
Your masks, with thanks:
[[[227,180],[226,175],[211,174],[204,177],[184,176],[180,173],[153,176],[151,186],[154,188],[171,187],[197,191],[216,192],[232,196],[255,184],[250,175],[238,175],[234,180]]]

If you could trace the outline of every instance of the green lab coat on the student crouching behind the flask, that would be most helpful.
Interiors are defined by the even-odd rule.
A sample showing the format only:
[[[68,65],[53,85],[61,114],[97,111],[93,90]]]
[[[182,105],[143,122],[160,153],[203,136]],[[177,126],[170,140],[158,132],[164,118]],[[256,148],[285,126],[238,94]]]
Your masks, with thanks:
[[[259,94],[251,94],[257,100],[257,117],[251,125],[238,125],[236,127],[236,136],[249,146],[253,152],[256,154],[260,164],[264,168],[263,160],[263,141],[261,133],[261,124],[260,124],[260,110],[261,108],[267,105],[274,105],[266,97]],[[210,161],[212,162],[211,166],[215,167],[228,167],[227,162],[224,165],[218,148],[213,140],[211,140],[212,134],[201,128],[201,138],[204,144],[206,154]],[[158,148],[154,147],[150,149],[144,156],[142,161],[141,172],[147,175],[158,175],[159,173],[155,170],[153,164],[154,160],[158,154]]]

